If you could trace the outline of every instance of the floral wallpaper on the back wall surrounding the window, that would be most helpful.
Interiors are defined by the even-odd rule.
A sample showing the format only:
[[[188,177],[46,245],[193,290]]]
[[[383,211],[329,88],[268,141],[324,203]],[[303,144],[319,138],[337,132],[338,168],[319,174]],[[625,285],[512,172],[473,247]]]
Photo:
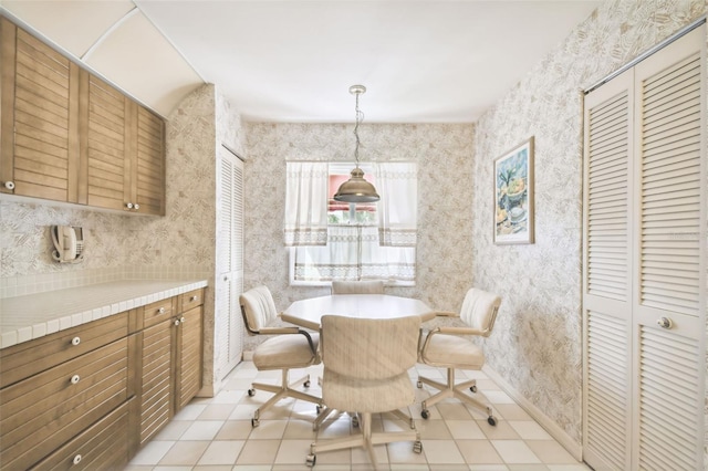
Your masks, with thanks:
[[[362,161],[418,164],[416,286],[391,287],[387,293],[418,297],[438,310],[457,310],[461,305],[472,269],[473,129],[470,124],[360,126]],[[353,124],[246,124],[243,289],[268,285],[280,310],[303,297],[330,294],[329,287],[289,285],[282,226],[285,161],[353,165]],[[251,349],[257,342],[247,338],[244,349]]]

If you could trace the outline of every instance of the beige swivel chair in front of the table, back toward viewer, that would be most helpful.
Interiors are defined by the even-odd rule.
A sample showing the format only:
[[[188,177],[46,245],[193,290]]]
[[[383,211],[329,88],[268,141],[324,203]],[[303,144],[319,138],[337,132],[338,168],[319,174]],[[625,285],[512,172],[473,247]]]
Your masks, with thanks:
[[[415,421],[399,410],[415,401],[408,369],[416,364],[419,338],[417,316],[388,320],[322,316],[322,399],[327,408],[355,412],[361,433],[315,441],[310,447],[308,465],[315,464],[317,453],[363,447],[376,469],[374,446],[394,441],[413,441],[413,450],[423,451]],[[377,412],[393,412],[406,420],[412,430],[372,432],[372,415]]]

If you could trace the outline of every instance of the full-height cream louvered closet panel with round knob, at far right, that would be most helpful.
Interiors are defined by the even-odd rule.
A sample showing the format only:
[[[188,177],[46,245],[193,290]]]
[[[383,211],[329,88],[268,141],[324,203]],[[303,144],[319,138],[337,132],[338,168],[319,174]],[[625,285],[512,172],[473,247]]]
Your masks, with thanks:
[[[634,451],[643,470],[704,468],[705,41],[701,27],[636,66]]]

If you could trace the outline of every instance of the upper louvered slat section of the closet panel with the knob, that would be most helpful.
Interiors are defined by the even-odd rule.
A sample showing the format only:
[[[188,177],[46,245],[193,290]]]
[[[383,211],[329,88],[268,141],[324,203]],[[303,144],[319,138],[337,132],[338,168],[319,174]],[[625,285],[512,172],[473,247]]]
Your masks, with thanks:
[[[642,95],[641,303],[693,316],[700,293],[699,67],[694,54],[645,80]],[[671,111],[677,119],[657,119]],[[663,158],[667,165],[655,164]]]

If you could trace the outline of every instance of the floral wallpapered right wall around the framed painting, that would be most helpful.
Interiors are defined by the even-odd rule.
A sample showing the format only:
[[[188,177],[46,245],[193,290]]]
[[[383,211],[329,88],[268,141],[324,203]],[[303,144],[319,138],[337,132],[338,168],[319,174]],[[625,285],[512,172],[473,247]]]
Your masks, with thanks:
[[[579,443],[581,91],[706,11],[705,1],[607,1],[477,123],[473,201],[487,201],[493,159],[535,139],[535,243],[494,245],[489,211],[473,205],[472,280],[503,299],[488,364]]]

